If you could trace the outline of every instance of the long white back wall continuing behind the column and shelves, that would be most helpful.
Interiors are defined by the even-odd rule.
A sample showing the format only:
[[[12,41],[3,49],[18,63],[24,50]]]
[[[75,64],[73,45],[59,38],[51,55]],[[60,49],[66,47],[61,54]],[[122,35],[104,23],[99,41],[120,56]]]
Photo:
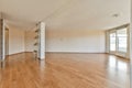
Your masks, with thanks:
[[[26,32],[25,48],[32,52],[34,33]],[[46,30],[46,52],[105,53],[105,32],[99,30]]]

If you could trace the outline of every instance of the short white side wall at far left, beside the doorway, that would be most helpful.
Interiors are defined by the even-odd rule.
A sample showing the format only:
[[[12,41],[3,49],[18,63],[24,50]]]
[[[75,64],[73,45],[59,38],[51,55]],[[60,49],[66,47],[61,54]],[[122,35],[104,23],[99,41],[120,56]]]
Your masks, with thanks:
[[[23,30],[9,29],[9,55],[24,52],[24,33]]]

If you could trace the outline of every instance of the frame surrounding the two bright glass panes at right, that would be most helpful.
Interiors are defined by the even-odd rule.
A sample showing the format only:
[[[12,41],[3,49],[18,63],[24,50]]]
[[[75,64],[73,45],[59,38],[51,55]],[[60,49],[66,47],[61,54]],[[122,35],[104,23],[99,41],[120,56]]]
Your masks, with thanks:
[[[110,51],[110,33],[112,32],[116,32],[116,35],[117,35],[117,31],[118,30],[121,30],[121,29],[127,29],[127,52],[121,52],[121,51],[118,51],[118,46],[116,46],[116,52],[111,52]],[[130,24],[124,24],[124,25],[121,25],[121,26],[118,26],[118,28],[113,28],[113,29],[110,29],[110,30],[107,30],[106,31],[106,52],[109,53],[109,54],[113,54],[113,55],[118,55],[118,56],[122,56],[122,57],[127,57],[127,58],[130,58]],[[118,44],[117,44],[118,45]]]

